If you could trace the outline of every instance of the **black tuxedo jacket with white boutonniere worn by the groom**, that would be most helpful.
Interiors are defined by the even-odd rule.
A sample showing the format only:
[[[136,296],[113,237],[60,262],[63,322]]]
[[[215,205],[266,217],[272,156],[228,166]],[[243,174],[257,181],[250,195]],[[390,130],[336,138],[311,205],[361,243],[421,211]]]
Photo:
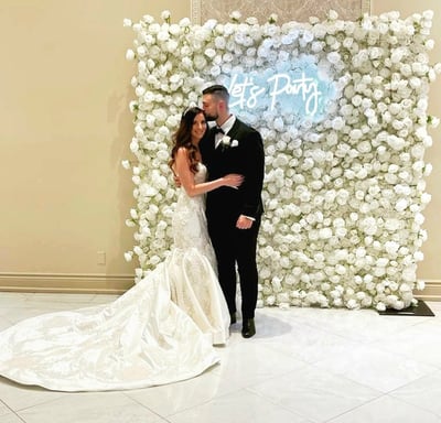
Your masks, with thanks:
[[[207,194],[208,224],[222,221],[235,225],[239,215],[259,219],[263,212],[261,189],[265,175],[261,135],[236,118],[233,128],[224,137],[229,138],[229,145],[222,142],[215,148],[215,130],[212,128],[201,140],[202,161],[207,166],[208,180],[228,173],[239,173],[245,180],[238,189],[224,186]]]

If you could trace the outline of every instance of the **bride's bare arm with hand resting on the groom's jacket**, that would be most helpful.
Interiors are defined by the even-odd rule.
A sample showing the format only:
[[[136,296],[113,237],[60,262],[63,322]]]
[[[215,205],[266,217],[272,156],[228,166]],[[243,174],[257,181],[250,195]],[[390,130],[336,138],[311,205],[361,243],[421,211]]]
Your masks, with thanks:
[[[189,153],[184,148],[178,150],[175,156],[175,172],[180,178],[181,185],[190,197],[205,194],[208,191],[219,188],[220,186],[237,188],[244,180],[241,175],[232,173],[219,177],[218,180],[195,184],[194,174],[190,170]]]

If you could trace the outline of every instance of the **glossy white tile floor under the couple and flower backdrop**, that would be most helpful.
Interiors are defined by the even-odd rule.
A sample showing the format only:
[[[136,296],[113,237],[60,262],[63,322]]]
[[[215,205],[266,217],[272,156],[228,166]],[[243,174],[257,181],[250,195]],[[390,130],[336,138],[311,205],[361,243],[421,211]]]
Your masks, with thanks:
[[[0,293],[0,329],[115,296]],[[441,423],[441,303],[434,317],[261,308],[220,365],[180,383],[51,392],[0,378],[0,423]]]

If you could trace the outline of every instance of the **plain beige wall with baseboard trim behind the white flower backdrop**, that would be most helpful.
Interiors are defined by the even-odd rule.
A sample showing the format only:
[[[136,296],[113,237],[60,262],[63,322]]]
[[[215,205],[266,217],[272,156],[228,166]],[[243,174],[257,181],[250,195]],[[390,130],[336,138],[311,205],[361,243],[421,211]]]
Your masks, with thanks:
[[[135,64],[125,54],[133,33],[122,20],[169,9],[178,21],[190,8],[190,0],[1,0],[0,288],[111,291],[132,283],[136,263],[123,260],[133,246],[125,226],[132,183],[120,162],[131,156]],[[439,0],[372,2],[375,14],[426,9],[441,28]],[[432,59],[440,61],[440,31],[432,35]],[[440,116],[441,80],[430,100]],[[441,281],[440,130],[429,152],[433,197],[419,270],[433,281]]]

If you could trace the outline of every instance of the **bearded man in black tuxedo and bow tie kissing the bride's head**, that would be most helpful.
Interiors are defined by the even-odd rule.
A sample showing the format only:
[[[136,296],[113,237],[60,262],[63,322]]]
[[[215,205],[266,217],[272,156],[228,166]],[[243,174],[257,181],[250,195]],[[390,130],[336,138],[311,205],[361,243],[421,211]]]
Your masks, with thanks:
[[[259,132],[229,112],[227,88],[213,85],[202,94],[206,119],[216,121],[216,126],[200,143],[208,178],[216,180],[227,173],[245,176],[238,189],[222,187],[207,193],[206,216],[232,324],[236,323],[237,265],[241,293],[241,335],[250,338],[256,334],[256,250],[263,212],[260,195],[265,174],[263,143]]]

